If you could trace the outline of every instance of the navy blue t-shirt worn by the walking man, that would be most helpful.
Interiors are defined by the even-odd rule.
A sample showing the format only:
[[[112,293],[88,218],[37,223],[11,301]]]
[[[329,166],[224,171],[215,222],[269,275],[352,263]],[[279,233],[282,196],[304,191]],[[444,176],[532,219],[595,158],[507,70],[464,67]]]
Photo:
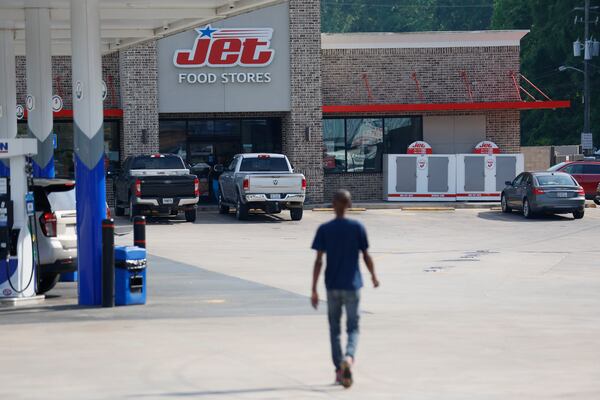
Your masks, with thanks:
[[[358,290],[362,277],[358,257],[369,247],[364,226],[355,220],[336,218],[319,227],[312,248],[327,255],[325,287]]]

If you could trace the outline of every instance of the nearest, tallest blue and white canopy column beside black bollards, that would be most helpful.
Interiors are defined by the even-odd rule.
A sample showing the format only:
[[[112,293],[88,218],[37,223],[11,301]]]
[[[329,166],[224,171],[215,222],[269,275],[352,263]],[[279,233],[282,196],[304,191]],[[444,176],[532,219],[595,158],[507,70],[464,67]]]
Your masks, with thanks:
[[[71,53],[79,304],[100,305],[106,186],[98,0],[71,0]]]

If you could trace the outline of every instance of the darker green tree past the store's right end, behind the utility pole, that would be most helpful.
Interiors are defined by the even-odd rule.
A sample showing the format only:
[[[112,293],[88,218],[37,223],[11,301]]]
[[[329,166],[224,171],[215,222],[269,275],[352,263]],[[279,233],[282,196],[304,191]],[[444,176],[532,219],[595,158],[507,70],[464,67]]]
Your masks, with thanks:
[[[577,144],[583,128],[583,74],[561,65],[583,68],[582,57],[573,57],[573,41],[583,40],[583,24],[575,24],[574,11],[583,1],[495,0],[493,29],[530,29],[521,43],[521,73],[552,99],[569,99],[571,108],[521,113],[523,145]],[[598,28],[591,32],[598,36]],[[594,142],[600,140],[600,69],[591,67],[591,107]],[[596,100],[594,100],[596,99]],[[594,129],[595,127],[595,129]]]

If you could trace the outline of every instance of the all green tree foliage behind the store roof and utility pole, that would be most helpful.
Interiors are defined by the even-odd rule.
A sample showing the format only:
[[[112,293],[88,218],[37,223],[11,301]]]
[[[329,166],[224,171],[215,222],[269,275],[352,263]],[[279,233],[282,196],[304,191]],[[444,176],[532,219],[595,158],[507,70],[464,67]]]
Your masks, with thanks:
[[[594,0],[592,1],[594,2]],[[598,2],[596,0],[596,2]],[[583,74],[559,72],[560,65],[582,69],[572,43],[583,40],[574,24],[583,0],[321,0],[324,32],[411,32],[529,29],[521,43],[521,73],[552,99],[571,108],[521,113],[524,145],[579,143],[583,128]],[[592,14],[592,19],[600,14]],[[600,25],[590,32],[600,38]],[[591,101],[594,143],[600,143],[600,57],[592,61]]]

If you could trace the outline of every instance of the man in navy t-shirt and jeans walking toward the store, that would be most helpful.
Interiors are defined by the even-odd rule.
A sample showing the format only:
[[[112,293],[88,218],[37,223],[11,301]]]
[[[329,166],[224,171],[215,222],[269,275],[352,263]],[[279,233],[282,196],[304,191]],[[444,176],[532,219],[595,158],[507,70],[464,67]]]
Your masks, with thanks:
[[[367,269],[371,273],[373,286],[379,286],[373,260],[367,251],[369,247],[367,232],[360,222],[345,217],[346,211],[351,205],[350,192],[347,190],[337,191],[333,196],[333,209],[336,217],[319,227],[312,244],[312,248],[317,251],[317,259],[313,269],[311,302],[316,309],[319,305],[317,281],[323,267],[323,254],[326,254],[325,287],[327,289],[331,357],[336,370],[336,384],[341,384],[345,388],[352,385],[352,366],[359,334],[359,302],[360,288],[362,287],[358,261],[360,252],[362,252]],[[342,307],[346,309],[346,333],[348,334],[345,353],[342,353],[340,343]]]

